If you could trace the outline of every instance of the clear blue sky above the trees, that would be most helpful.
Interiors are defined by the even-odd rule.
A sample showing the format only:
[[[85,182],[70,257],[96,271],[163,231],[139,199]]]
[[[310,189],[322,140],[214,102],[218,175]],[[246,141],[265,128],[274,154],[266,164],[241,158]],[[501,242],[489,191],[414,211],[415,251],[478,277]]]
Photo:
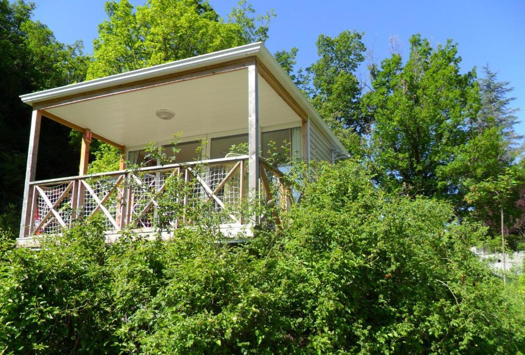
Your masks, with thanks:
[[[84,41],[91,53],[97,25],[106,17],[104,0],[33,0],[35,19],[48,25],[58,40]],[[131,0],[142,5],[145,0]],[[237,0],[210,0],[216,11],[226,16]],[[433,45],[452,38],[459,44],[461,69],[485,64],[499,71],[499,80],[514,87],[514,107],[525,121],[525,1],[335,1],[335,0],[252,0],[258,12],[275,9],[266,45],[274,53],[298,47],[298,65],[306,67],[317,58],[315,42],[319,34],[335,36],[345,29],[365,32],[365,44],[374,58],[388,56],[388,38],[397,36],[405,55],[408,38],[421,33]],[[517,127],[525,135],[525,122]]]

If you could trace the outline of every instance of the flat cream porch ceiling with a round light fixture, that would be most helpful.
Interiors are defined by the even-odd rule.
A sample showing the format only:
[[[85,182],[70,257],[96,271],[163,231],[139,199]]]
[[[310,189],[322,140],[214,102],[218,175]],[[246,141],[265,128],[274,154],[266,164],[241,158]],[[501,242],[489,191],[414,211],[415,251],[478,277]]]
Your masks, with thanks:
[[[175,112],[161,120],[155,111]],[[88,128],[121,145],[165,141],[182,131],[183,137],[247,129],[248,72],[180,81],[46,108],[46,111]],[[259,76],[259,125],[297,122],[301,119]]]

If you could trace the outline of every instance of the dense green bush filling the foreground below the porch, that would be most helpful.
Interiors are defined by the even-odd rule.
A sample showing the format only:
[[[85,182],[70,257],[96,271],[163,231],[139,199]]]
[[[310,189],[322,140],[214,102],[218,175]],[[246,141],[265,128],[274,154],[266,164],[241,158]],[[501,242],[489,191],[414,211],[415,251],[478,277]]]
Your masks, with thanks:
[[[279,232],[243,245],[179,229],[106,245],[83,223],[0,248],[4,352],[480,352],[525,349],[520,305],[447,204],[316,166]],[[5,242],[8,243],[8,242]],[[522,305],[521,305],[522,307]]]

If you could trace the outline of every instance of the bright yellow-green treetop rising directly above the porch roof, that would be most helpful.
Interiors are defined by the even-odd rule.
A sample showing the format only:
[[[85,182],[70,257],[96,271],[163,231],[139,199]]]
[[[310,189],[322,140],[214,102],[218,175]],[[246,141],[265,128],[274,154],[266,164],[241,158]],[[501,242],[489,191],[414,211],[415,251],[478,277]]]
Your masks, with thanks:
[[[136,11],[128,0],[108,1],[106,13],[88,79],[264,41],[274,16],[253,17],[253,7],[241,1],[224,20],[203,0],[148,0]]]

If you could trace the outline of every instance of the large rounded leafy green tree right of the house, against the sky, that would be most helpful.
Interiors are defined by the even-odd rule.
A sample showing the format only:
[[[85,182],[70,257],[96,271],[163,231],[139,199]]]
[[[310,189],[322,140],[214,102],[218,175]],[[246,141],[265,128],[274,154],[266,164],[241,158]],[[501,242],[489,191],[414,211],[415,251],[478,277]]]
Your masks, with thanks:
[[[432,48],[415,35],[410,45],[406,64],[393,54],[371,70],[365,105],[374,117],[372,162],[384,186],[433,196],[446,192],[436,170],[454,159],[476,119],[476,75],[459,73],[461,58],[451,40]]]

